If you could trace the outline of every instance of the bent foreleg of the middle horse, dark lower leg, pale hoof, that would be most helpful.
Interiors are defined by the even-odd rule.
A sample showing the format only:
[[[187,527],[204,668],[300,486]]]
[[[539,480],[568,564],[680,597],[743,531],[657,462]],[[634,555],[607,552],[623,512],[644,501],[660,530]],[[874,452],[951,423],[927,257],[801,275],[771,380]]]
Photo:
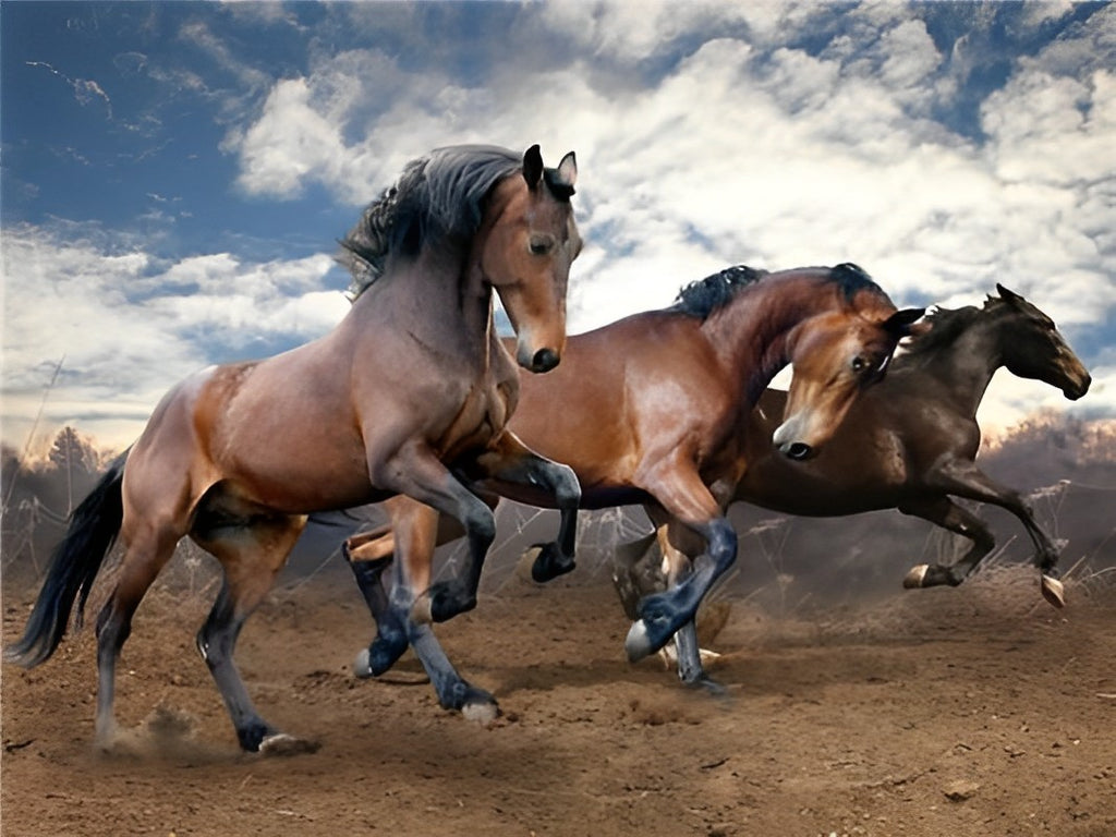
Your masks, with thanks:
[[[705,551],[694,560],[693,573],[686,578],[639,603],[639,619],[624,642],[632,661],[658,651],[692,622],[713,583],[737,558],[737,533],[692,462],[681,454],[661,460],[641,484],[664,511],[705,540]]]

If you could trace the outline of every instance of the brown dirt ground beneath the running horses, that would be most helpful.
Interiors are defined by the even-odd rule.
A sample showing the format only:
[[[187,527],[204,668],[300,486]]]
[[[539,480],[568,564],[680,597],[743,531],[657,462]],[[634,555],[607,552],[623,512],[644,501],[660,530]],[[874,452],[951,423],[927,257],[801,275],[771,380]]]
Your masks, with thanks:
[[[576,575],[576,574],[575,574]],[[321,743],[240,753],[193,648],[206,597],[153,589],[118,681],[134,728],[92,745],[93,631],[4,665],[3,835],[1116,835],[1116,596],[1032,570],[775,618],[738,600],[728,698],[623,658],[607,580],[516,577],[440,626],[492,691],[488,727],[439,709],[413,658],[349,663],[371,620],[341,575],[277,590],[238,660],[264,715]],[[7,589],[4,642],[30,593]]]

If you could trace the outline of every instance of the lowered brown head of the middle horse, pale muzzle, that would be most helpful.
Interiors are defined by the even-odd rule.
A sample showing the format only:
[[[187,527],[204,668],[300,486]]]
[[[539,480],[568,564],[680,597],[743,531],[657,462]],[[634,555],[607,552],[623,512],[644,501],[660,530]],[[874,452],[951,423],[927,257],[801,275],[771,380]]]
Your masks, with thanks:
[[[875,286],[799,326],[790,363],[793,371],[783,423],[772,441],[786,456],[805,460],[829,441],[856,396],[883,378],[899,339],[923,315],[895,310]]]

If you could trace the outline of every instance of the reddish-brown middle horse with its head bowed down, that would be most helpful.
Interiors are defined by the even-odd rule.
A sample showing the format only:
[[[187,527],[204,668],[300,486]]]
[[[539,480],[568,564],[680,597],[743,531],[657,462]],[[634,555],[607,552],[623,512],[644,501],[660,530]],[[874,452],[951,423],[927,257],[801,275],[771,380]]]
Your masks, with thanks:
[[[642,503],[660,518],[684,521],[704,542],[694,571],[645,598],[625,641],[629,658],[661,648],[733,564],[737,535],[722,493],[742,469],[738,429],[775,374],[788,363],[793,383],[787,419],[768,439],[780,455],[808,459],[869,385],[922,309],[897,311],[853,264],[768,273],[735,267],[694,282],[667,309],[645,311],[571,336],[562,365],[536,381],[520,376],[521,401],[510,427],[542,455],[574,469],[581,508]],[[527,482],[479,480],[497,497],[552,507]],[[425,622],[443,619],[427,589],[439,542],[460,535],[429,507],[398,498],[391,526],[346,545],[358,585],[377,622],[377,637],[357,657],[358,674],[378,674],[411,643],[443,706],[494,706],[452,670]],[[542,581],[574,568],[575,513],[564,511],[556,545],[532,567]],[[389,589],[381,574],[394,562]],[[435,588],[437,585],[435,585]],[[410,613],[408,613],[410,610]]]

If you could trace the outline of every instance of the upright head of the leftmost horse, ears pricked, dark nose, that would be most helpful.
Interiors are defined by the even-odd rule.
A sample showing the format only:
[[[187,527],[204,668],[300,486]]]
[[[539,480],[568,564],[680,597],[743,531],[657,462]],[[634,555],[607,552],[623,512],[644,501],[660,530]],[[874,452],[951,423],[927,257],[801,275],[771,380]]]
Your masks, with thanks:
[[[531,372],[552,369],[566,348],[566,286],[581,250],[569,201],[576,181],[574,152],[557,169],[547,169],[532,145],[523,155],[522,176],[506,177],[494,187],[491,223],[479,242],[484,280],[516,329],[516,360]]]

